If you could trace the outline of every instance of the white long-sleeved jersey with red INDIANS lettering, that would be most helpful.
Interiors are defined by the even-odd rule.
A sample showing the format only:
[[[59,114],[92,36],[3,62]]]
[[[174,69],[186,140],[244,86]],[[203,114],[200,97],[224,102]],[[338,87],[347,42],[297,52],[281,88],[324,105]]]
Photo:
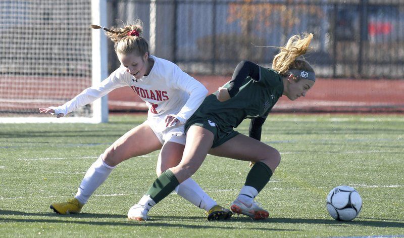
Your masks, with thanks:
[[[180,121],[179,124],[184,124],[204,101],[208,90],[176,64],[155,56],[150,57],[155,63],[147,76],[136,79],[121,65],[99,85],[83,90],[69,102],[55,108],[55,114],[66,115],[105,96],[115,88],[130,86],[146,102],[147,120],[154,130],[163,131],[166,128],[164,118],[167,115],[175,116]]]

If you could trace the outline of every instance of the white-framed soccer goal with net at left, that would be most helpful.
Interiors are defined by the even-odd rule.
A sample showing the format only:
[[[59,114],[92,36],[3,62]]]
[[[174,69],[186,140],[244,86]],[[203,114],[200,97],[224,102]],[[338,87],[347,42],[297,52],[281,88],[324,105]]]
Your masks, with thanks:
[[[0,123],[108,122],[107,97],[65,117],[60,106],[108,77],[106,0],[0,1]]]

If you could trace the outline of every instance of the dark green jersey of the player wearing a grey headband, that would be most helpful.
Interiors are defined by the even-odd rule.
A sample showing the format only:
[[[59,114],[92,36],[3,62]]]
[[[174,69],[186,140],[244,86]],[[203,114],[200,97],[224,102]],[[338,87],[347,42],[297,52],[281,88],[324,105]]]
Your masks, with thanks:
[[[228,88],[229,83],[223,87]],[[266,117],[282,92],[282,77],[276,71],[260,66],[259,81],[246,77],[239,92],[225,102],[217,100],[216,91],[204,100],[194,116],[207,118],[224,131],[232,130],[246,118]]]

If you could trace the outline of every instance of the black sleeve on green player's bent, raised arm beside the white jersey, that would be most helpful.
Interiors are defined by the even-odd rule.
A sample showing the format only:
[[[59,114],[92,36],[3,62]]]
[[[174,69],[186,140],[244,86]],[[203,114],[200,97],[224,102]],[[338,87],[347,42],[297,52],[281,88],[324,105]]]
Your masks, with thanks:
[[[241,61],[234,70],[231,81],[229,82],[230,97],[233,98],[240,89],[244,79],[250,76],[253,80],[260,80],[260,66],[250,61]]]

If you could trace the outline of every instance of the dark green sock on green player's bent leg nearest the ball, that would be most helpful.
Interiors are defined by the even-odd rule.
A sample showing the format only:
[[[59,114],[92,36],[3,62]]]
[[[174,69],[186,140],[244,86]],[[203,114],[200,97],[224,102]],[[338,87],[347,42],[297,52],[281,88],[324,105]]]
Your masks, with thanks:
[[[245,179],[245,186],[251,186],[257,189],[258,193],[265,187],[272,176],[272,170],[263,162],[257,162],[252,166],[247,178]]]

